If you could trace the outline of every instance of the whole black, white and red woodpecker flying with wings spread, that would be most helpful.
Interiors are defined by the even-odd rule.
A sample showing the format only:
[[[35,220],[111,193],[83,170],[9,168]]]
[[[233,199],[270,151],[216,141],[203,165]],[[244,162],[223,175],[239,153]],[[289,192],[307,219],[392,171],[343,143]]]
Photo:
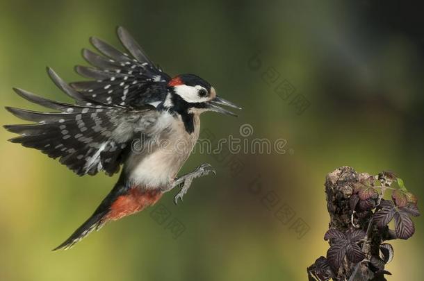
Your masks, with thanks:
[[[129,54],[96,37],[90,42],[100,55],[83,49],[93,67],[77,66],[76,72],[94,80],[67,84],[47,68],[51,80],[75,104],[14,89],[24,99],[56,112],[6,107],[20,119],[36,122],[4,126],[20,135],[10,142],[59,158],[79,176],[101,170],[112,176],[123,165],[115,187],[92,216],[54,250],[70,248],[108,221],[153,205],[174,187],[181,187],[174,202],[182,201],[194,178],[215,173],[210,164],[202,164],[177,178],[199,137],[199,115],[214,111],[236,116],[219,105],[241,109],[217,96],[199,76],[165,74],[124,28],[118,27],[117,35]]]

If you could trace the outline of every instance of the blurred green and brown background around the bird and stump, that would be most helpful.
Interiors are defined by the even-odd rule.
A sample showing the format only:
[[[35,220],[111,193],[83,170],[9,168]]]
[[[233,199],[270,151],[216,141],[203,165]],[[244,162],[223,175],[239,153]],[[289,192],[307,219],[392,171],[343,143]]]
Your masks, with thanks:
[[[400,1],[1,0],[2,106],[42,109],[12,87],[70,101],[44,67],[78,80],[72,67],[85,65],[80,50],[88,37],[118,45],[122,25],[168,74],[198,74],[243,106],[237,119],[202,115],[202,128],[221,138],[250,124],[250,137],[284,138],[287,151],[240,153],[236,174],[227,160],[195,153],[181,172],[210,162],[218,176],[195,180],[178,206],[174,192],[163,197],[186,228],[177,239],[150,208],[51,252],[117,178],[79,178],[6,142],[13,134],[0,130],[0,280],[306,280],[307,266],[327,250],[327,173],[343,165],[391,169],[424,196],[422,10]],[[249,62],[258,52],[255,70]],[[263,76],[270,67],[295,88],[293,96],[309,101],[302,114]],[[20,122],[6,110],[0,117],[1,124]],[[280,200],[271,210],[263,203],[268,191]],[[274,214],[282,205],[295,212],[288,223]],[[297,219],[309,227],[300,239],[291,228]],[[389,280],[423,277],[424,221],[414,221],[416,235],[393,242]]]

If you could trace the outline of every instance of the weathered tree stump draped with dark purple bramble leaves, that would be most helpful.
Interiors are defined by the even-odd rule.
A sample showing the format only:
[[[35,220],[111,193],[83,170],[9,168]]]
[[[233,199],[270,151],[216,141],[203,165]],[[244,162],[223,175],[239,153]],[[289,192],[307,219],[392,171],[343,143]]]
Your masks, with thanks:
[[[405,214],[419,214],[416,200],[403,205],[399,205],[395,198],[394,202],[384,201],[382,197],[386,189],[409,193],[403,187],[390,187],[394,180],[396,176],[391,172],[372,176],[357,173],[352,167],[340,167],[327,174],[325,198],[330,220],[324,239],[329,240],[330,248],[327,257],[319,257],[308,267],[309,280],[386,280],[384,274],[391,273],[385,271],[384,266],[393,258],[393,248],[382,242],[398,237],[398,226],[396,232],[387,226],[393,215],[386,213],[405,210]],[[379,181],[381,185],[375,186]],[[386,219],[385,224],[382,218]],[[408,237],[400,238],[407,239],[412,234],[408,232]]]

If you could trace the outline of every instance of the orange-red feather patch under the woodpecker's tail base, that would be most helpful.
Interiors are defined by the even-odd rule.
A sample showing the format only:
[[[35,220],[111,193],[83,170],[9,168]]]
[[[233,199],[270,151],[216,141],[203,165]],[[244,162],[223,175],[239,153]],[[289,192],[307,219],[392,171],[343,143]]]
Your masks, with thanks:
[[[118,196],[106,215],[108,220],[121,219],[124,216],[140,212],[149,205],[154,205],[162,197],[159,190],[141,190],[137,187],[129,189],[127,194]]]

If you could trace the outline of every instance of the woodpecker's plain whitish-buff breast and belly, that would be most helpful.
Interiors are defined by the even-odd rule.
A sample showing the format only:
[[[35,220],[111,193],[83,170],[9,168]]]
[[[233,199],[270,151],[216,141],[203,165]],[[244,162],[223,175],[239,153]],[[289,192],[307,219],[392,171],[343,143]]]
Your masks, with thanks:
[[[195,119],[195,131],[188,134],[180,118],[163,114],[155,125],[158,137],[127,160],[130,182],[148,189],[170,185],[199,137],[199,119]]]

